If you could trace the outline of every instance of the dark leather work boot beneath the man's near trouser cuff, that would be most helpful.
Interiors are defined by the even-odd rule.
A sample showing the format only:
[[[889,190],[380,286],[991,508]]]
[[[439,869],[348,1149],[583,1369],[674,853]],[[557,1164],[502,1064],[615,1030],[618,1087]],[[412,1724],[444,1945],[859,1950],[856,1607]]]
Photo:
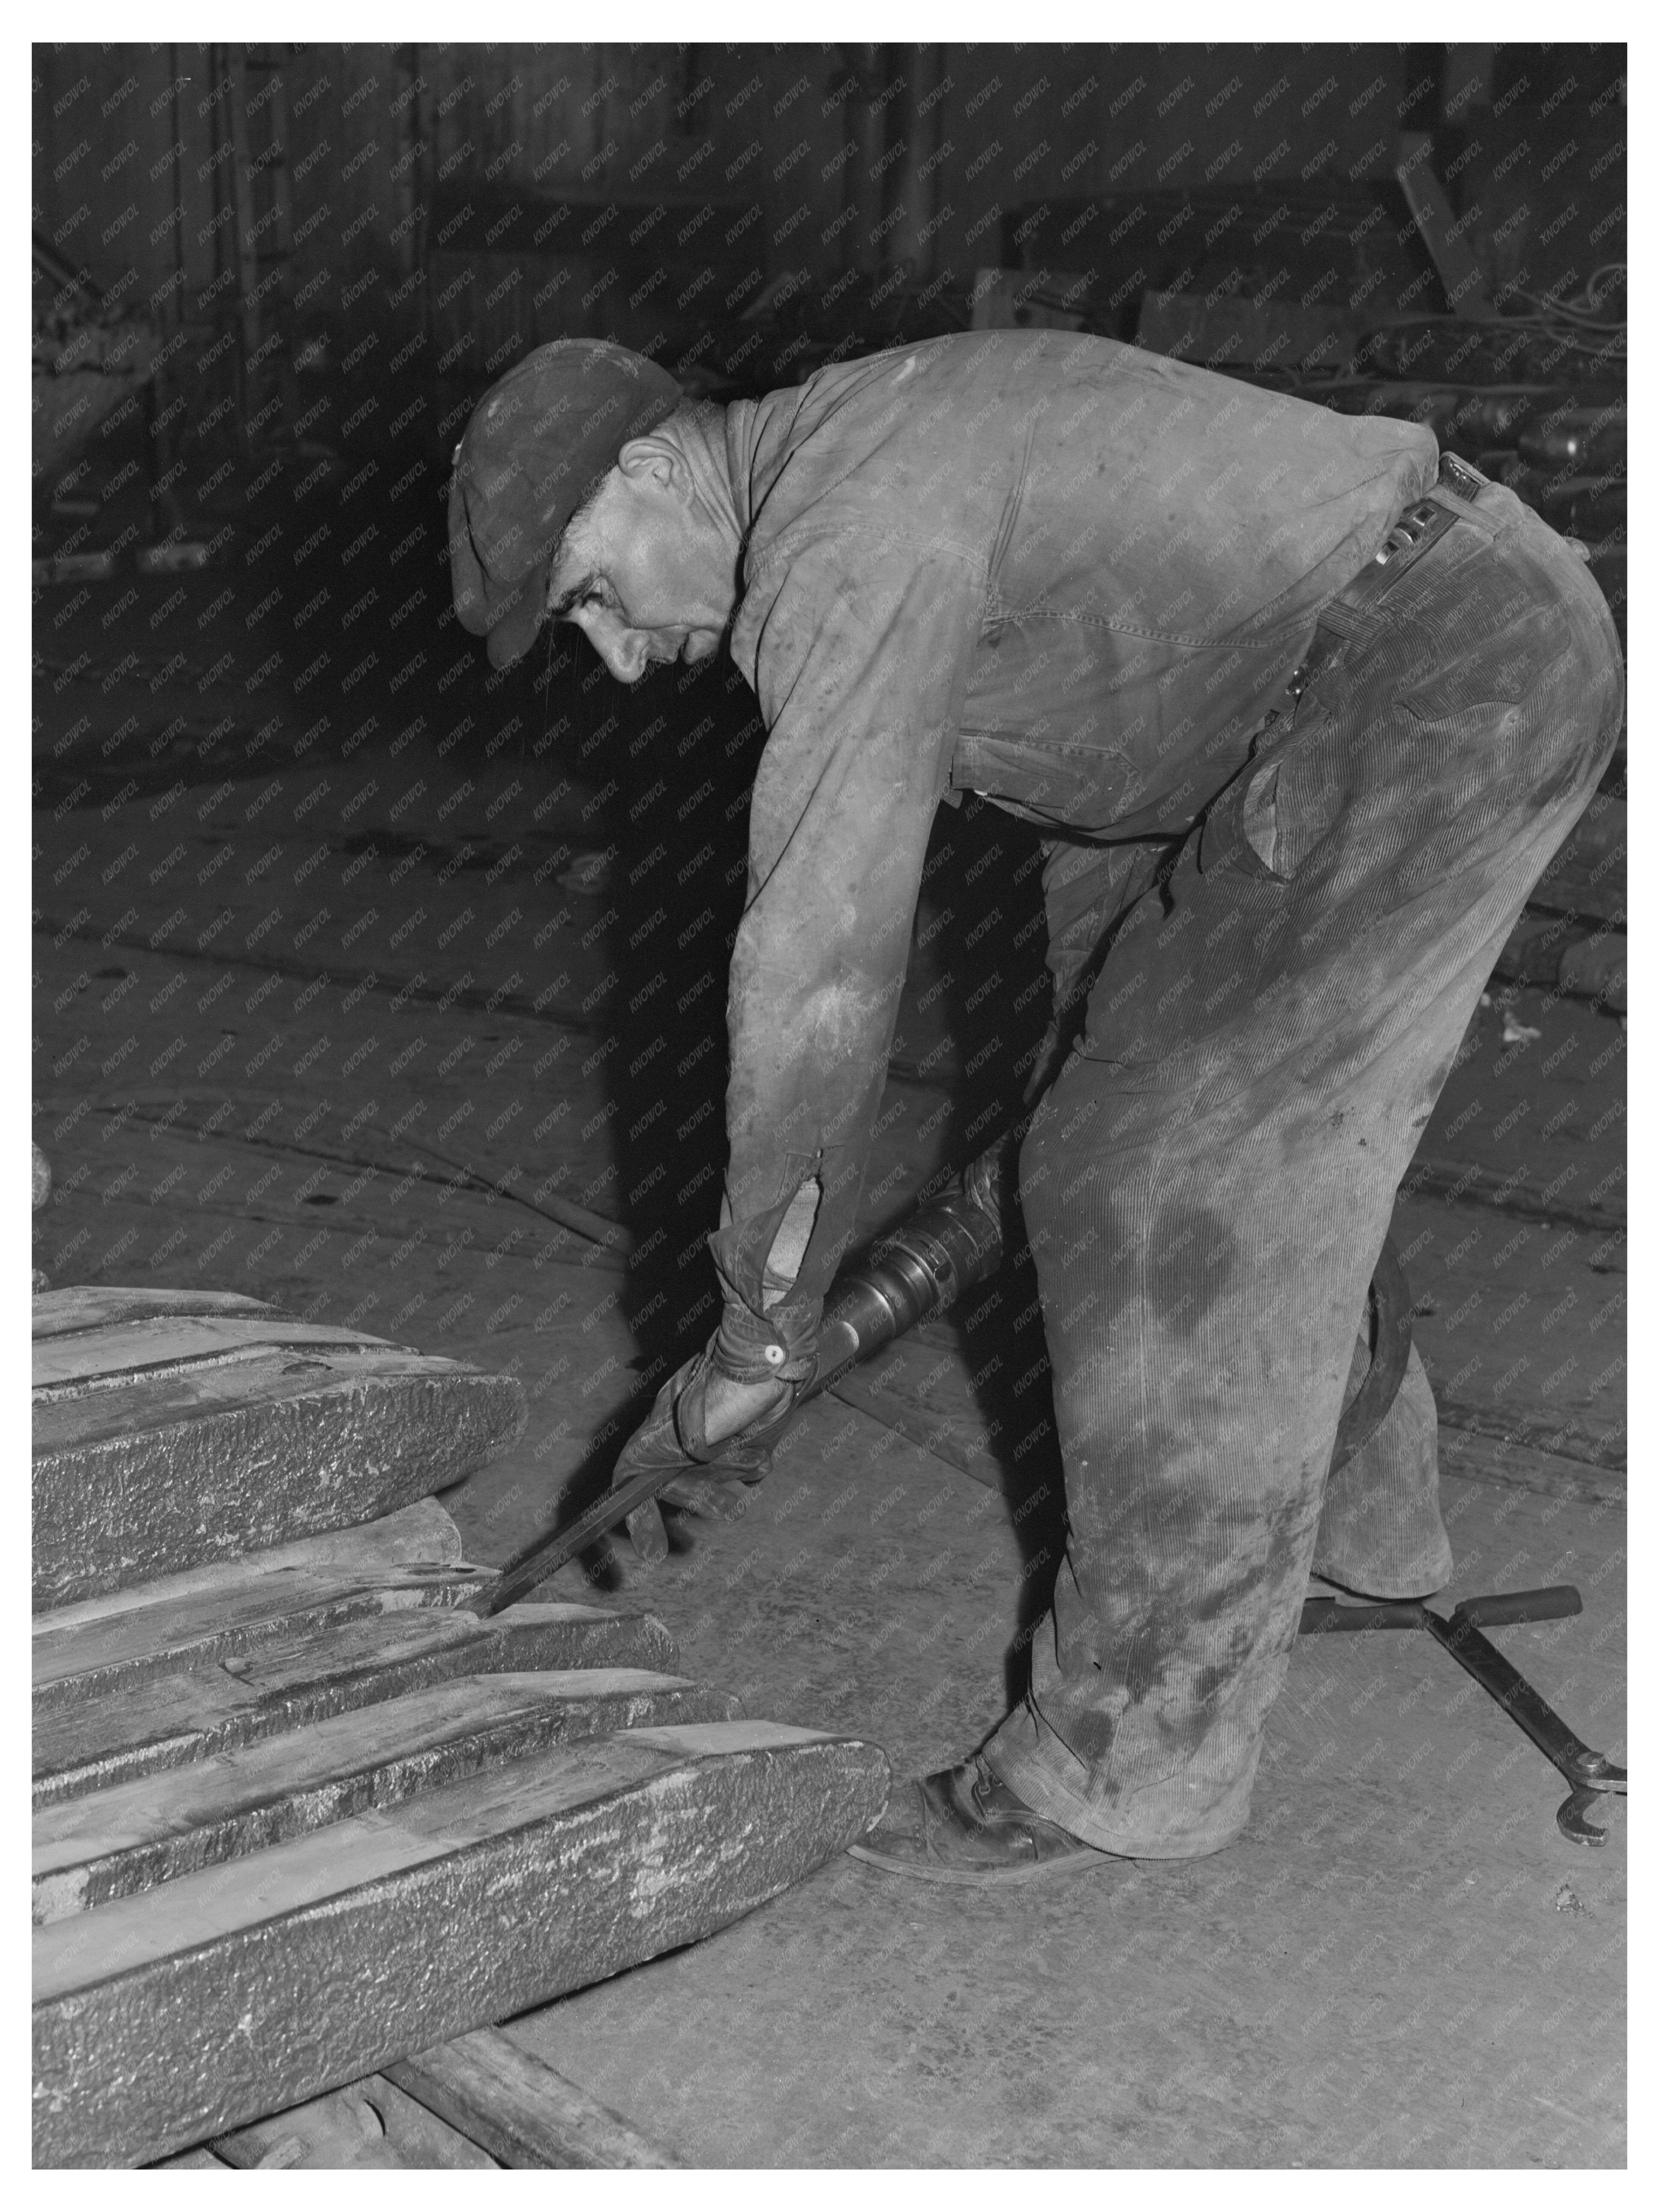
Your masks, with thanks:
[[[1073,1867],[1099,1867],[1115,1854],[1097,1851],[1044,1820],[984,1759],[973,1756],[911,1783],[909,1801],[889,1805],[863,1843],[852,1845],[852,1856],[922,1882],[1000,1889]]]

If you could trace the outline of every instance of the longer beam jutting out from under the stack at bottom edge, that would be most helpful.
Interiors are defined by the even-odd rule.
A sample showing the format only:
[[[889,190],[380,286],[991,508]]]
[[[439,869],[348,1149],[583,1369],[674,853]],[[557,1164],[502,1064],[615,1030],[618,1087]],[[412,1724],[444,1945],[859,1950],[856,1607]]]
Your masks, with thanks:
[[[387,2073],[502,2166],[630,2170],[681,2163],[500,2028],[473,2028],[416,2051]]]

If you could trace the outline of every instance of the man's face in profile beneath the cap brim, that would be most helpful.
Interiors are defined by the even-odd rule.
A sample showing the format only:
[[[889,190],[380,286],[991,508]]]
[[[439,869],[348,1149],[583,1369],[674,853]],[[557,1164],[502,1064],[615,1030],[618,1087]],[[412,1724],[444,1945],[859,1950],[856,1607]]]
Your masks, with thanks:
[[[573,622],[619,684],[648,668],[706,661],[732,619],[728,544],[666,469],[628,449],[575,515],[549,577],[549,613]]]

